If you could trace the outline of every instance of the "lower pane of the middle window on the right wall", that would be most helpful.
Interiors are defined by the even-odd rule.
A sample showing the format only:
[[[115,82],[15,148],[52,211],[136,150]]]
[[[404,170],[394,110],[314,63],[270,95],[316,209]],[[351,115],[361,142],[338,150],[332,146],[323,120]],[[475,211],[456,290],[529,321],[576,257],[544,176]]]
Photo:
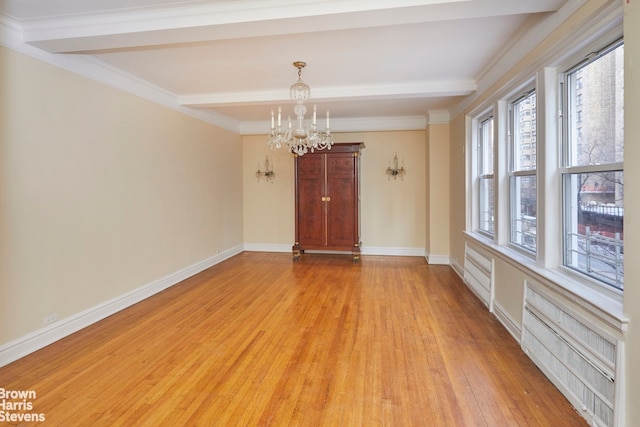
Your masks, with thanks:
[[[511,177],[511,242],[536,250],[536,177]]]

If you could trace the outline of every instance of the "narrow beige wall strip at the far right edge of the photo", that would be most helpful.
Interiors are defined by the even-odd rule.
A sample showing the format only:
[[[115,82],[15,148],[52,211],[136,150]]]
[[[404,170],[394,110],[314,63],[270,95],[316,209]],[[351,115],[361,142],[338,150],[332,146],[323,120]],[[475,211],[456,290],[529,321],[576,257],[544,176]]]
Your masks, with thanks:
[[[626,2],[624,20],[624,311],[629,318],[626,337],[627,424],[640,426],[640,8]]]

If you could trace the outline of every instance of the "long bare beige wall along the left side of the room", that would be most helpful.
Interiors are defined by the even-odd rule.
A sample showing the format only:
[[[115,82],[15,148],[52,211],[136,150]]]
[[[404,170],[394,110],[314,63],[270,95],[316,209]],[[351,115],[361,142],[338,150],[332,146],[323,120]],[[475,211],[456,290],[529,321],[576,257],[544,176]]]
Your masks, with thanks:
[[[242,245],[239,136],[0,48],[0,345]]]

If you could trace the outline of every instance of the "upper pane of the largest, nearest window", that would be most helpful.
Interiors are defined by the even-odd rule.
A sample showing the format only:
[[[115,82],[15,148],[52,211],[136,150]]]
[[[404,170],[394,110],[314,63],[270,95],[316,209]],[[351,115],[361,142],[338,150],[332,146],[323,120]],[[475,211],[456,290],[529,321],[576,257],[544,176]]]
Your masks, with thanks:
[[[624,147],[624,46],[567,76],[567,166],[622,161]]]

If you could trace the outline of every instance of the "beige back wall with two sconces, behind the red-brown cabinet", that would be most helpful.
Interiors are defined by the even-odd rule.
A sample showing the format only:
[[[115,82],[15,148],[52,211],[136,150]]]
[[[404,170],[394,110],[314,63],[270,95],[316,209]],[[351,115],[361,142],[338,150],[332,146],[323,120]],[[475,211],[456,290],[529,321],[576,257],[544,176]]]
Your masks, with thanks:
[[[425,132],[356,132],[335,134],[335,142],[364,142],[361,157],[361,235],[367,248],[425,248]],[[244,239],[251,247],[281,245],[290,250],[294,237],[293,158],[285,149],[271,151],[265,136],[243,138]],[[394,152],[404,160],[404,178],[388,179]],[[273,184],[258,182],[255,172],[265,155],[274,164]],[[448,237],[448,236],[447,236]]]

